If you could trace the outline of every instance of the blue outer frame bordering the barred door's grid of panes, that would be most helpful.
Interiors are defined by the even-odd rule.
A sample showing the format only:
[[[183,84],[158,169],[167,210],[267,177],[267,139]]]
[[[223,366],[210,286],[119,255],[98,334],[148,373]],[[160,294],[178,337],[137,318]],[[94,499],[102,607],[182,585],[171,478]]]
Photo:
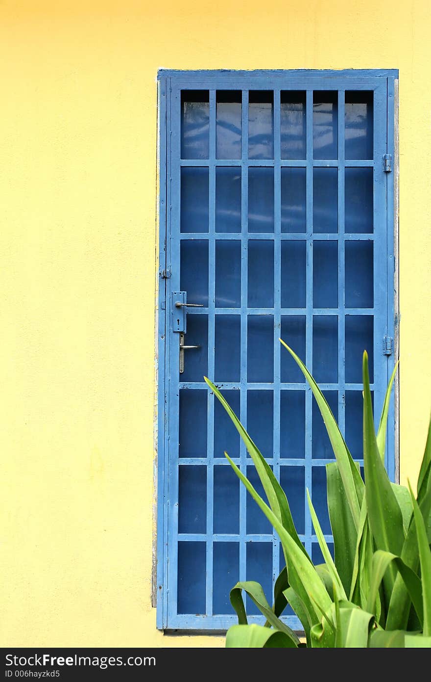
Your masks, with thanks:
[[[176,582],[171,586],[172,572],[176,570],[176,548],[172,529],[168,522],[168,514],[177,514],[172,505],[176,503],[176,470],[168,466],[170,447],[170,433],[178,430],[178,414],[172,409],[173,396],[170,391],[170,357],[178,356],[178,349],[172,346],[170,333],[170,305],[172,291],[179,291],[179,263],[171,258],[171,207],[172,207],[172,147],[178,148],[178,140],[172,140],[178,131],[178,125],[173,126],[172,117],[178,117],[180,112],[180,91],[186,89],[295,89],[295,90],[373,90],[374,112],[377,119],[375,125],[387,126],[385,149],[374,152],[374,167],[379,155],[387,153],[394,158],[394,82],[398,78],[396,70],[342,70],[342,71],[313,71],[313,70],[281,70],[281,71],[170,71],[159,72],[159,315],[158,315],[158,452],[157,452],[157,627],[159,629],[192,629],[223,630],[236,622],[232,618],[212,616],[181,615],[177,616],[170,608],[172,599],[170,591],[176,590]],[[211,95],[210,95],[211,96]],[[377,105],[377,106],[376,106]],[[214,106],[214,95],[212,104]],[[380,118],[379,118],[380,117]],[[308,119],[309,122],[309,119]],[[338,125],[344,125],[342,112],[338,117]],[[310,135],[310,126],[307,125]],[[238,162],[239,164],[241,162]],[[313,166],[313,160],[308,158],[306,165]],[[292,165],[296,165],[293,162]],[[385,253],[387,273],[385,282],[374,282],[377,293],[375,306],[385,308],[385,329],[374,330],[374,355],[377,344],[383,342],[383,336],[394,338],[394,173],[382,173],[379,176],[379,187],[374,184],[374,192],[381,192],[386,207],[385,215],[378,216],[386,224],[386,230],[381,231],[380,237],[375,234],[374,239],[385,239],[379,252]],[[343,209],[341,209],[343,210]],[[383,263],[381,264],[383,266]],[[379,295],[381,288],[382,295]],[[308,303],[308,305],[310,305]],[[382,311],[383,312],[383,309]],[[383,332],[383,333],[381,333]],[[178,336],[178,335],[177,335]],[[307,344],[310,343],[308,339]],[[340,349],[339,349],[340,352]],[[341,353],[340,353],[341,354]],[[394,355],[387,361],[385,375],[374,376],[374,382],[379,383],[379,391],[389,379],[394,366]],[[381,386],[380,386],[381,384]],[[178,399],[177,399],[178,400]],[[380,398],[379,398],[380,400]],[[379,402],[377,400],[377,402]],[[376,405],[379,409],[379,404]],[[389,424],[395,420],[392,403],[389,413]],[[392,480],[395,477],[395,441],[394,428],[388,429],[386,466]],[[167,555],[170,549],[169,556]],[[208,587],[207,587],[208,591]],[[176,603],[176,599],[174,599]],[[259,622],[251,617],[250,622]],[[300,629],[299,621],[289,620],[293,627]]]

